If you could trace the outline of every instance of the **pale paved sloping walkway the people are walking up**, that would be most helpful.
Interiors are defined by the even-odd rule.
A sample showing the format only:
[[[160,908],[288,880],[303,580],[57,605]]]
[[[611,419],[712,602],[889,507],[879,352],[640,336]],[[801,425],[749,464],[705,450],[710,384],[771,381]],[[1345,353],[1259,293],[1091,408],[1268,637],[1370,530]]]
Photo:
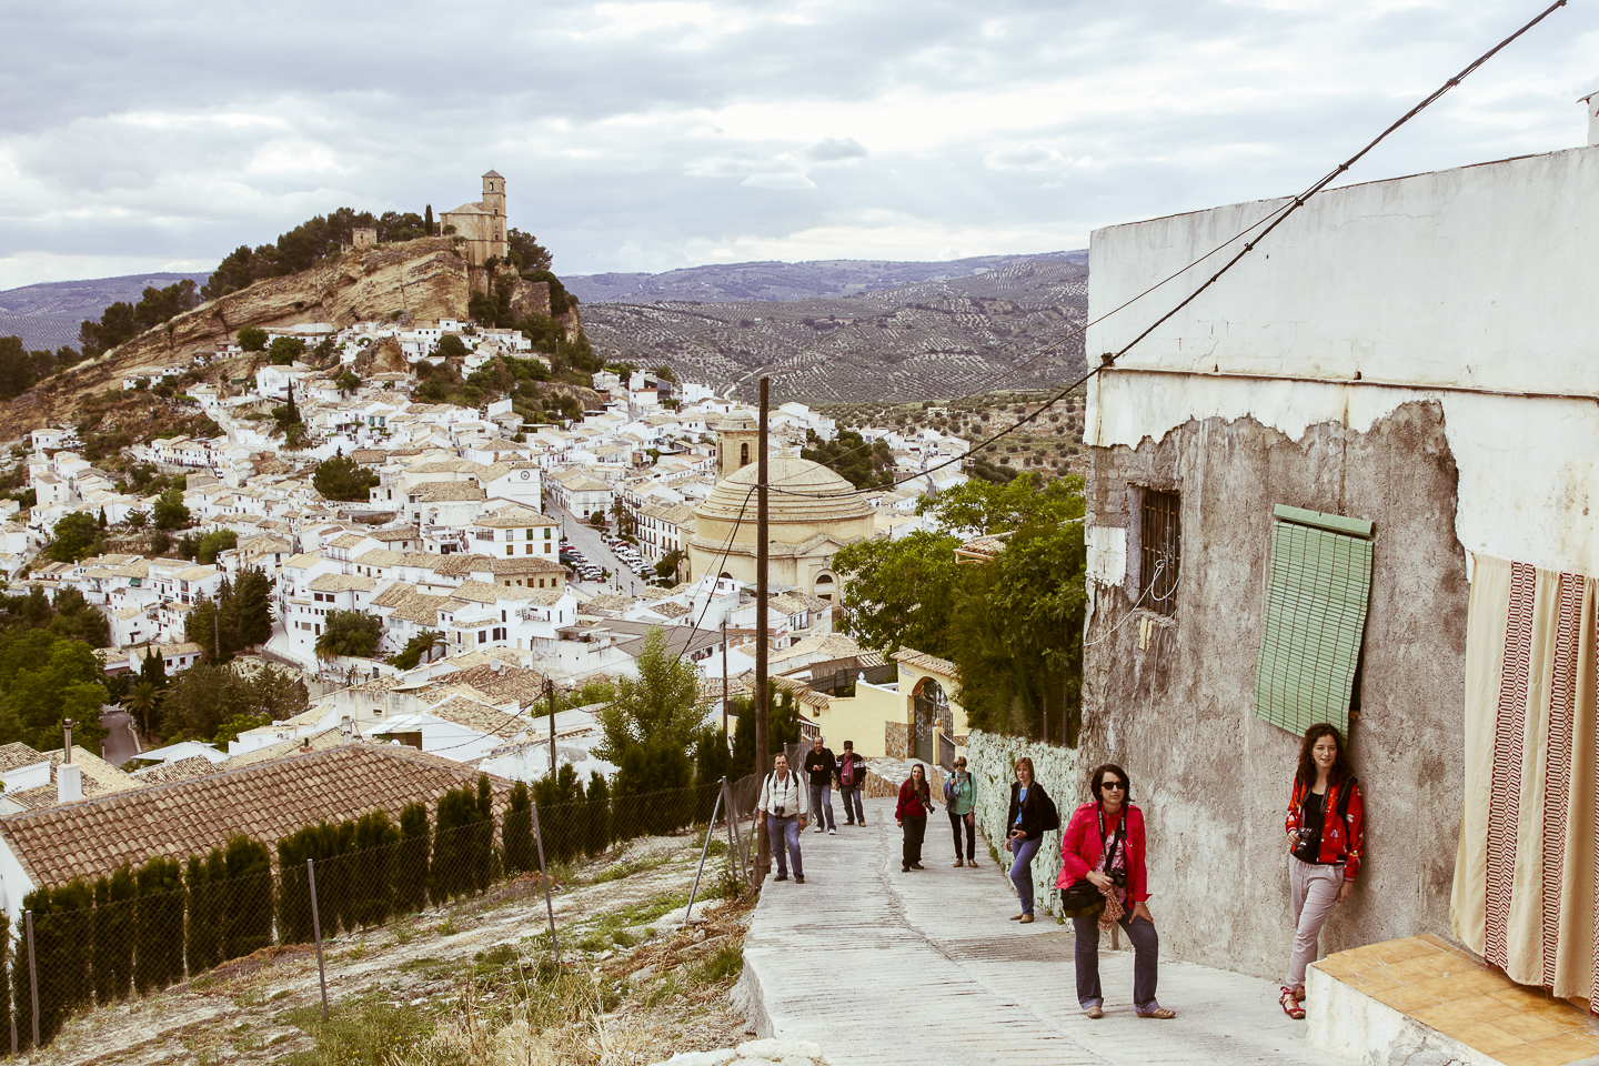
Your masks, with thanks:
[[[982,837],[977,847],[977,869],[950,865],[942,804],[923,873],[900,873],[892,801],[867,801],[865,828],[806,831],[806,884],[768,881],[744,945],[756,1032],[814,1040],[831,1066],[942,1052],[963,1066],[1342,1063],[1305,1045],[1305,1023],[1282,1013],[1274,983],[1236,973],[1162,961],[1159,999],[1177,1020],[1134,1016],[1132,953],[1110,951],[1110,935],[1107,1016],[1087,1020],[1070,925],[1007,921],[1015,895]],[[1159,924],[1158,898],[1151,909]]]

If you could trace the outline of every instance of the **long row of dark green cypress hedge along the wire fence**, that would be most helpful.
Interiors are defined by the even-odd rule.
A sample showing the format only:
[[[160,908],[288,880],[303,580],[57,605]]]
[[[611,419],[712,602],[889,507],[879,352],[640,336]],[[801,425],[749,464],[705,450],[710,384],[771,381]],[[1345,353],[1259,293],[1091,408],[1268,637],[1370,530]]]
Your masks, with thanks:
[[[48,1045],[72,1015],[150,996],[262,948],[315,943],[446,906],[510,881],[548,893],[569,863],[643,836],[728,836],[729,876],[753,861],[758,778],[536,807],[516,785],[496,818],[488,778],[395,821],[307,825],[270,845],[237,836],[205,855],[154,857],[93,882],[30,892],[0,937],[11,1053]],[[699,877],[699,876],[697,876]],[[697,884],[696,877],[696,884]],[[552,916],[552,945],[553,945]],[[558,945],[556,945],[558,951]],[[326,1007],[326,988],[323,989]]]

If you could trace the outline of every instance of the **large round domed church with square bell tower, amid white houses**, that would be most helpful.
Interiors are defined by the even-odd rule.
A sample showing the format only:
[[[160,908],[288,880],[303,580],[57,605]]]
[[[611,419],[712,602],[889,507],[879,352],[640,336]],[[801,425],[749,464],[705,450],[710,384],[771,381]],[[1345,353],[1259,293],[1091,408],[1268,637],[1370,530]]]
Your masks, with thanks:
[[[689,539],[696,577],[755,583],[758,447],[760,428],[748,416],[729,416],[716,427],[716,487],[694,508]],[[871,505],[855,486],[809,459],[772,455],[768,484],[768,580],[774,590],[787,585],[836,601],[833,553],[871,535]]]

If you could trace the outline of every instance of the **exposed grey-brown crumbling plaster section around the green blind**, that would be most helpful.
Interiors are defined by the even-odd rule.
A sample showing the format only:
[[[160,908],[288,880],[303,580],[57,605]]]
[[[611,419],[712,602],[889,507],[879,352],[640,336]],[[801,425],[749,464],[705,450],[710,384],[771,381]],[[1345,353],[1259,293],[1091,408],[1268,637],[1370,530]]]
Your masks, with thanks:
[[[1083,767],[1118,762],[1132,778],[1164,957],[1274,978],[1287,967],[1282,815],[1298,738],[1252,714],[1273,503],[1377,529],[1350,745],[1370,796],[1367,863],[1322,953],[1449,935],[1468,601],[1455,484],[1442,409],[1425,401],[1366,432],[1322,422],[1294,440],[1210,417],[1094,449],[1092,543],[1126,540],[1140,486],[1182,494],[1175,619],[1132,609],[1135,550],[1121,580],[1089,580],[1078,753]],[[1153,620],[1146,642],[1140,617]]]

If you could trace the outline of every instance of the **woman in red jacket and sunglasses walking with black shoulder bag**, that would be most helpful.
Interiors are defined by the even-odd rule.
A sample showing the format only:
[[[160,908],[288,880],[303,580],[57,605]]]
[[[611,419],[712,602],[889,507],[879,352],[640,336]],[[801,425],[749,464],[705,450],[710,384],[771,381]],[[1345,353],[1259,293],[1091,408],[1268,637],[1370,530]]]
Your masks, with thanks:
[[[1132,941],[1132,1008],[1140,1018],[1175,1018],[1177,1012],[1154,999],[1161,938],[1154,932],[1146,900],[1143,866],[1143,812],[1127,802],[1127,772],[1107,762],[1094,770],[1089,790],[1094,802],[1083,804],[1060,836],[1060,877],[1065,890],[1087,881],[1105,893],[1105,913],[1083,914],[1076,922],[1078,1002],[1089,1018],[1105,1016],[1099,983],[1100,925],[1121,922]],[[1111,917],[1115,916],[1115,917]]]

